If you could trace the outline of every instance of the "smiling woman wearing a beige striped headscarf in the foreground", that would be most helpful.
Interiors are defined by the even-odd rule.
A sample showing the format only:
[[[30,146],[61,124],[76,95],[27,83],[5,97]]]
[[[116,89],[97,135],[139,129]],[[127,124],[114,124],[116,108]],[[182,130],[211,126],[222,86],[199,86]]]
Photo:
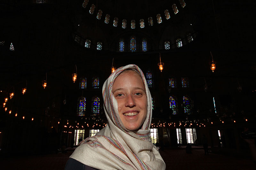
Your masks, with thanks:
[[[80,143],[65,169],[165,169],[150,140],[152,101],[144,74],[134,64],[118,68],[105,81],[108,124]]]

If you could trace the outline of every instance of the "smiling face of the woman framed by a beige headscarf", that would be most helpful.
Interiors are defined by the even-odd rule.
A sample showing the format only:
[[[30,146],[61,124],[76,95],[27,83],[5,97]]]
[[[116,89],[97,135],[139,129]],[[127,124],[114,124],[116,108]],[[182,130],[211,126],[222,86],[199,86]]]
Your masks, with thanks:
[[[118,113],[124,127],[139,129],[147,116],[147,95],[140,75],[135,71],[121,73],[113,84]]]

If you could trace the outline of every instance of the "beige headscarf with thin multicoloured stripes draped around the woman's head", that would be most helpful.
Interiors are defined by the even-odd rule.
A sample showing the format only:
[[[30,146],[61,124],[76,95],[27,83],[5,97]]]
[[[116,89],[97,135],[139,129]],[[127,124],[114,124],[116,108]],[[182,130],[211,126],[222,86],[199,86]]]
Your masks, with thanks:
[[[141,129],[127,130],[118,114],[117,101],[112,93],[112,86],[117,76],[126,69],[133,69],[140,74],[147,94],[147,117]],[[80,142],[70,158],[96,169],[156,169],[164,170],[165,163],[150,140],[152,117],[152,99],[147,81],[137,65],[130,64],[118,68],[105,81],[102,94],[108,125],[94,137]]]

